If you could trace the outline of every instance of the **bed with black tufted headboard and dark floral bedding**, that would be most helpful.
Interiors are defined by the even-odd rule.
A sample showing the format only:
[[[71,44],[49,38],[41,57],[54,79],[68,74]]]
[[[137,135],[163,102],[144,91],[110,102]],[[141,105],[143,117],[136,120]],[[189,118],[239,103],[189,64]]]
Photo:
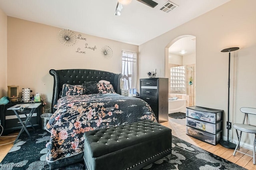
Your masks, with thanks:
[[[46,125],[51,133],[46,144],[50,170],[83,160],[85,131],[146,119],[156,121],[148,103],[120,95],[121,73],[92,69],[49,72],[54,77],[53,115]]]

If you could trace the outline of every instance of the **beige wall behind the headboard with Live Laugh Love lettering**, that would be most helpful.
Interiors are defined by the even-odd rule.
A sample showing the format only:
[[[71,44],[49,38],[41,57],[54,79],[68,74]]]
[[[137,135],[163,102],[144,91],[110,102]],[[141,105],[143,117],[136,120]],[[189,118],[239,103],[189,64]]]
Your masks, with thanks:
[[[58,32],[62,28],[18,18],[8,17],[7,28],[7,85],[19,85],[20,92],[22,88],[30,88],[33,93],[40,93],[44,98],[49,98],[48,101],[52,99],[53,90],[50,69],[99,69],[121,73],[122,50],[138,53],[137,45],[87,34],[81,34],[86,41],[77,40],[75,45],[66,46],[58,40]],[[77,37],[80,34],[74,33]],[[85,49],[85,43],[88,43],[88,47],[96,45],[96,49]],[[104,45],[112,48],[112,58],[106,59],[100,54]],[[78,48],[86,51],[86,54],[77,53]]]

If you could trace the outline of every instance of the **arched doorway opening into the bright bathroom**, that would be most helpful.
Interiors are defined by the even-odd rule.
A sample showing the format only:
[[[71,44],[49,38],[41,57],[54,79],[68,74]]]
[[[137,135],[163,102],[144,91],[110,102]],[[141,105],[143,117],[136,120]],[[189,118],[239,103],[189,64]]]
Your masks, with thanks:
[[[196,37],[180,36],[166,46],[166,77],[169,78],[168,113],[186,113],[196,105]],[[174,119],[186,125],[186,119]]]

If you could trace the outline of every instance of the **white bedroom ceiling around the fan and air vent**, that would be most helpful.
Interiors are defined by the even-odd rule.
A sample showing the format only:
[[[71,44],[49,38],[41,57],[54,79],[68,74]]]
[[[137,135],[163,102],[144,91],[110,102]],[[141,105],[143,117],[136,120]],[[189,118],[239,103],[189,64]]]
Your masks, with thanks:
[[[132,0],[115,16],[118,0],[0,0],[7,16],[75,32],[140,45],[230,0],[171,0],[178,8],[165,13]]]

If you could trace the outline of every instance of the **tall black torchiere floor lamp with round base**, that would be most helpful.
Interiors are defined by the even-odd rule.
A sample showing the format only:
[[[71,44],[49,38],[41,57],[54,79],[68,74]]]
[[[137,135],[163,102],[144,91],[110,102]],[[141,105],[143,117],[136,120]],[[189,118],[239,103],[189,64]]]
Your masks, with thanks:
[[[229,87],[230,87],[230,52],[231,51],[236,51],[238,50],[239,47],[230,47],[230,48],[226,48],[226,49],[222,49],[221,52],[228,52],[228,139],[227,140],[220,140],[220,145],[224,146],[225,148],[229,148],[229,149],[235,149],[236,148],[236,144],[230,142],[229,140],[229,129],[231,128],[231,124],[229,122]]]

